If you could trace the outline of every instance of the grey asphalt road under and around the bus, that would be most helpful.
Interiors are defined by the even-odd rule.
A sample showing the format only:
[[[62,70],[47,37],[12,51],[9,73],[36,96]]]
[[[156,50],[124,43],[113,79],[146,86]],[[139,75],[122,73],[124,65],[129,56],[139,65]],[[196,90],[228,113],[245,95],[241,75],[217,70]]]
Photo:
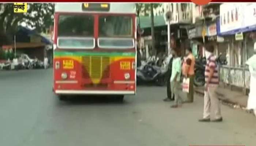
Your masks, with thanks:
[[[164,87],[138,87],[124,103],[52,93],[52,69],[0,72],[0,146],[188,146],[256,143],[256,118],[222,105],[222,123],[199,123],[203,98],[171,109]]]

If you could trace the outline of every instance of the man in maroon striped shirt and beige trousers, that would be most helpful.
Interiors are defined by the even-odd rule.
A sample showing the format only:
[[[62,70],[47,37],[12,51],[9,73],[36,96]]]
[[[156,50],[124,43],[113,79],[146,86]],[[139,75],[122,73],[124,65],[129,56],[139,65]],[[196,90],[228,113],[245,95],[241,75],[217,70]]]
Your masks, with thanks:
[[[221,122],[221,108],[216,90],[219,85],[218,66],[216,63],[216,57],[213,55],[214,46],[208,46],[206,48],[207,65],[205,68],[205,90],[204,90],[204,113],[203,119],[199,122]],[[213,110],[214,119],[210,120],[210,109]]]

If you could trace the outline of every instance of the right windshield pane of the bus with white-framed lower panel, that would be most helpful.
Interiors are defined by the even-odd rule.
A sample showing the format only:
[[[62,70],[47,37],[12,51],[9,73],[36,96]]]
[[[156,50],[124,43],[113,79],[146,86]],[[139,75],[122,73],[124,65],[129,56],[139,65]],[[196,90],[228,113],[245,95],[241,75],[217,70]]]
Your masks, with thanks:
[[[131,16],[99,16],[98,46],[101,48],[134,48]]]

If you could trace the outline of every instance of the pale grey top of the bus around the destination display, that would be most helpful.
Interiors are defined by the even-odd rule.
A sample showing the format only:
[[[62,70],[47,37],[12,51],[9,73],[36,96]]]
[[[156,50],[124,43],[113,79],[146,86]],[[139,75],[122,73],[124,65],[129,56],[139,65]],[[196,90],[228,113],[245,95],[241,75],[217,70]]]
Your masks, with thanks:
[[[89,3],[90,4],[90,3]],[[107,4],[107,3],[104,3]],[[109,11],[83,11],[83,3],[55,3],[55,12],[136,14],[135,3],[108,3]]]

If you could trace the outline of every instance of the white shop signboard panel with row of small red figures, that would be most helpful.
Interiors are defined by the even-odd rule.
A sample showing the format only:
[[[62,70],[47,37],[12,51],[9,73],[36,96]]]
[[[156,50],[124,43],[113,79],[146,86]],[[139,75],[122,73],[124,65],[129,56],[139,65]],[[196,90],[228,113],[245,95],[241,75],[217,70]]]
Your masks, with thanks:
[[[224,3],[220,5],[220,32],[229,32],[243,27],[246,3]]]

